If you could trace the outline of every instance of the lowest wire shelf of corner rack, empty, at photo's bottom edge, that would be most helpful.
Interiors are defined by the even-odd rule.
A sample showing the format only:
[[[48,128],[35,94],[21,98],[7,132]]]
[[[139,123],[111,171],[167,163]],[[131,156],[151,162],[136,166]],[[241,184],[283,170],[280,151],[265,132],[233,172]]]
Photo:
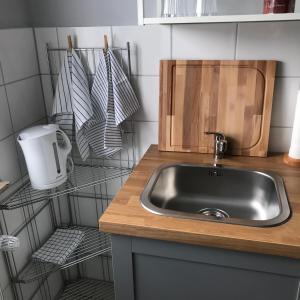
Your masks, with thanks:
[[[114,300],[112,282],[80,279],[66,285],[58,300]]]

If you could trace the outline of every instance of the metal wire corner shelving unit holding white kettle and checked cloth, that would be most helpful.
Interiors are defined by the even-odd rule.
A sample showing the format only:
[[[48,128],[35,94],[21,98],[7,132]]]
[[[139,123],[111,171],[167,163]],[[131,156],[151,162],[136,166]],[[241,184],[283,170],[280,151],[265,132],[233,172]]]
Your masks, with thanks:
[[[112,49],[119,58],[125,73],[131,79],[129,43],[126,48]],[[82,59],[88,78],[92,82],[96,73],[97,57],[103,48],[76,48],[74,50]],[[65,48],[52,49],[47,46],[53,94],[65,51],[67,51]],[[2,222],[4,233],[16,236],[26,233],[31,245],[31,254],[45,243],[45,240],[41,241],[36,219],[40,218],[46,209],[49,211],[47,213],[51,220],[52,231],[48,234],[49,237],[58,228],[84,232],[84,239],[62,265],[28,257],[28,262],[20,268],[16,263],[15,254],[9,253],[6,261],[16,299],[33,299],[41,289],[43,292],[40,293],[41,296],[38,299],[42,300],[114,299],[110,236],[99,232],[97,225],[101,214],[135,166],[134,123],[128,120],[122,125],[124,147],[111,156],[101,158],[91,156],[86,162],[82,162],[74,146],[72,150],[74,170],[61,186],[49,190],[35,190],[31,187],[28,176],[25,176],[12,189],[1,195],[0,225]],[[67,132],[67,134],[72,137],[71,140],[75,145],[74,132],[72,134]],[[86,218],[83,215],[87,208],[90,209],[93,217]],[[9,232],[7,226],[9,217],[6,214],[9,216],[11,210],[21,211],[25,219],[24,224],[14,232]],[[68,221],[65,220],[66,215]],[[94,260],[99,262],[98,268],[101,269],[99,278],[91,278],[90,273],[86,272],[88,263]],[[77,274],[75,278],[74,270]],[[61,275],[64,288],[54,297],[49,277],[57,273]],[[27,298],[28,293],[23,291],[23,287],[28,284],[37,284],[30,298]]]

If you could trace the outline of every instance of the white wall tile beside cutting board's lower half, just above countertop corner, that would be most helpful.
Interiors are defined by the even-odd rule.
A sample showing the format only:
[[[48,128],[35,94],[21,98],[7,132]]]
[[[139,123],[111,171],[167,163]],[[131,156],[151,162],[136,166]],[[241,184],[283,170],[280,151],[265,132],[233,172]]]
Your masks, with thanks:
[[[140,160],[151,144],[158,144],[158,122],[135,122],[137,160]]]

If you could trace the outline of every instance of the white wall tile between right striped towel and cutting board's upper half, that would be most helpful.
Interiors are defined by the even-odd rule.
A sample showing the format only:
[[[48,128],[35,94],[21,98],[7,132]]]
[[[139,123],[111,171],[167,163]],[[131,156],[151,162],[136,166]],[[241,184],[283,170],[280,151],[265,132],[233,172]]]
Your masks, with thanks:
[[[134,76],[132,82],[141,105],[134,119],[158,122],[159,77]]]

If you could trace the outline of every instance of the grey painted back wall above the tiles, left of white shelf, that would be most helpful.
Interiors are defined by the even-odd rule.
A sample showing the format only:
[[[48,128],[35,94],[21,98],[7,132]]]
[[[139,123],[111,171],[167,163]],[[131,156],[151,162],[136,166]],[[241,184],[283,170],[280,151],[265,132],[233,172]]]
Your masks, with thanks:
[[[137,24],[136,0],[28,0],[33,26]]]

